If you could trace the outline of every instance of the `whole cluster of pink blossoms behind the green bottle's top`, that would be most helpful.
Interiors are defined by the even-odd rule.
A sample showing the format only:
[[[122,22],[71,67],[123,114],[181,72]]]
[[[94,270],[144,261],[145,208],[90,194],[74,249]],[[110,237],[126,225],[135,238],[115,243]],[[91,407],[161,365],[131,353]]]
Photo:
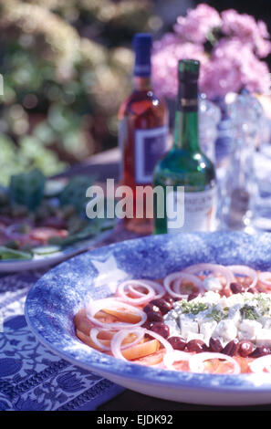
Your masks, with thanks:
[[[220,36],[211,52],[207,52],[206,35],[218,26]],[[215,33],[213,36],[216,37]],[[269,92],[270,72],[262,59],[271,52],[269,38],[263,21],[256,22],[253,16],[238,14],[234,9],[222,12],[221,16],[209,5],[189,9],[187,16],[177,18],[174,31],[154,44],[155,89],[173,99],[178,86],[178,61],[193,58],[201,62],[200,90],[210,99],[243,88]]]

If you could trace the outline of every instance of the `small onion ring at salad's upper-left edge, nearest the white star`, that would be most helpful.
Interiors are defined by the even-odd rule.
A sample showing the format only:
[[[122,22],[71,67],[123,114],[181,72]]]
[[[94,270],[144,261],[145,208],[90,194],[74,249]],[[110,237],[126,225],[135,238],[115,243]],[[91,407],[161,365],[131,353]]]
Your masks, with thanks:
[[[135,287],[141,287],[147,289],[147,294],[137,290]],[[134,297],[131,298],[127,296],[127,291],[130,292]],[[158,293],[157,293],[158,292]],[[162,288],[162,285],[156,283],[151,280],[126,280],[117,288],[117,295],[122,298],[122,300],[126,302],[130,302],[131,304],[141,305],[150,301],[152,298],[161,298],[165,291]]]

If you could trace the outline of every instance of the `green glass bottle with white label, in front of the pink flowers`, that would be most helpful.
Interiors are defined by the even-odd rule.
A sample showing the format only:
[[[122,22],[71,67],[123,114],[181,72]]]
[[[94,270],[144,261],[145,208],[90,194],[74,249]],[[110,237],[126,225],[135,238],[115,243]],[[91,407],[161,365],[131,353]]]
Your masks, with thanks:
[[[214,165],[198,137],[199,68],[197,60],[179,61],[173,146],[153,172],[154,190],[162,191],[154,192],[154,234],[215,229]]]

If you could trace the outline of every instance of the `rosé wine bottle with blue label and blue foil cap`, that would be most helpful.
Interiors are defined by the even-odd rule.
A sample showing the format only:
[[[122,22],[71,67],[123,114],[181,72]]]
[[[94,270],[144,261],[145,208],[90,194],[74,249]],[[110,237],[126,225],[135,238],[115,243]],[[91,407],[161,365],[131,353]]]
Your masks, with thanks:
[[[153,213],[148,213],[146,201],[152,201],[154,166],[166,152],[168,110],[151,88],[151,35],[135,35],[133,48],[134,88],[119,111],[120,184],[130,187],[133,199],[133,213],[123,224],[130,231],[151,234]],[[144,201],[137,195],[139,186],[144,186]]]

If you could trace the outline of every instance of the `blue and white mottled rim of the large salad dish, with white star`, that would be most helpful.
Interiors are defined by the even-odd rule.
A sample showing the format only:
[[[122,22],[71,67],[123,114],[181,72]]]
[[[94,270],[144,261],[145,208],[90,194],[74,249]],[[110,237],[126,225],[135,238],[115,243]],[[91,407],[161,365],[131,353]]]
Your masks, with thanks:
[[[51,351],[136,392],[184,403],[270,403],[271,374],[167,371],[120,361],[75,336],[73,318],[89,298],[105,298],[127,278],[159,278],[198,262],[271,267],[271,235],[236,232],[154,235],[75,256],[41,277],[26,298],[26,319]]]

